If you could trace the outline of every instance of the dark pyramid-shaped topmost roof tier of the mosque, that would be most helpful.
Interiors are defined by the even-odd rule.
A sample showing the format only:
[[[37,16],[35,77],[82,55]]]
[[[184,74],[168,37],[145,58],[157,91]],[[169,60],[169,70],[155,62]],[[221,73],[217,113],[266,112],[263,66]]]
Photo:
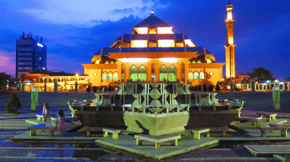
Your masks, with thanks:
[[[170,25],[166,24],[164,21],[160,20],[158,17],[154,15],[150,15],[148,18],[145,20],[141,21],[139,24],[137,24],[134,27],[171,27]]]

